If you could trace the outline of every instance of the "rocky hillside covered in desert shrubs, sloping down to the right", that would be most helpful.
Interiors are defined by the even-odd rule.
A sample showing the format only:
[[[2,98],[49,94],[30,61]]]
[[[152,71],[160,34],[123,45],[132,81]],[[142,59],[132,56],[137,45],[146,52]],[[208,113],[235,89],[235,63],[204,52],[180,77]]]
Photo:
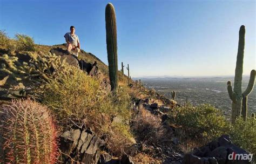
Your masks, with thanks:
[[[92,53],[0,36],[0,162],[230,163],[232,152],[256,151],[254,115],[231,125],[209,104],[181,105],[175,91],[168,99],[122,71],[113,91]]]

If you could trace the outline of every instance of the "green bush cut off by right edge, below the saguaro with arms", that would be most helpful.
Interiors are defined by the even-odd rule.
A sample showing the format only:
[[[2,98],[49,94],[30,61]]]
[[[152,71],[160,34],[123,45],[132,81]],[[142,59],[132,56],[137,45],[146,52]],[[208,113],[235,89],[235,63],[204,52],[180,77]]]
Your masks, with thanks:
[[[242,118],[235,120],[229,134],[235,145],[256,154],[256,120],[254,118],[247,118],[246,121]]]

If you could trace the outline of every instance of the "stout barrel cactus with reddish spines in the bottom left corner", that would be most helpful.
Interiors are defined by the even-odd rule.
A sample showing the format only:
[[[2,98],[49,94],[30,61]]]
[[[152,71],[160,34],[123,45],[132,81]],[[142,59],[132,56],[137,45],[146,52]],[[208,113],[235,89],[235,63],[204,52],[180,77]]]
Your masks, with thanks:
[[[56,127],[45,106],[30,99],[14,100],[1,111],[4,163],[57,161]]]

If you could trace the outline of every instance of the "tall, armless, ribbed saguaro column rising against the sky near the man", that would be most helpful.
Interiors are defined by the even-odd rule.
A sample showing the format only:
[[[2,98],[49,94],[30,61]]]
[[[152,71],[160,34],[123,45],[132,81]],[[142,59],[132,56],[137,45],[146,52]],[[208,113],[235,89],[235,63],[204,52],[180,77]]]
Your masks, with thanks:
[[[114,6],[111,3],[106,5],[105,20],[110,85],[111,91],[117,92],[117,26],[116,13],[114,11]]]

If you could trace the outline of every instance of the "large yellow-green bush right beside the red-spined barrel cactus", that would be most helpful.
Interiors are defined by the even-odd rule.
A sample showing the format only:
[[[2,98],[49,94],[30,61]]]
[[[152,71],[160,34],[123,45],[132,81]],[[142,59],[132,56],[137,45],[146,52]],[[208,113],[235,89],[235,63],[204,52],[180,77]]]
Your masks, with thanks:
[[[99,110],[100,104],[104,103],[99,81],[75,67],[72,71],[58,72],[56,78],[49,79],[43,92],[42,103],[58,114],[62,125],[82,127],[89,119],[87,116]]]

